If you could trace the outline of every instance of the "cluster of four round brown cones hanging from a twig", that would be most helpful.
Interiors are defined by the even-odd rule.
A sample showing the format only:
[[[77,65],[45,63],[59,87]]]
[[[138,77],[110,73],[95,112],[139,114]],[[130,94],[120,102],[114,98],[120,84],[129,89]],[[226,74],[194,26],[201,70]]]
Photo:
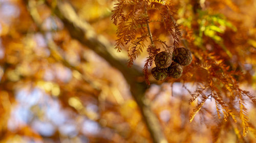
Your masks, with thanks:
[[[151,70],[151,73],[156,80],[164,80],[168,76],[180,78],[183,72],[181,66],[187,66],[191,61],[192,54],[187,48],[176,48],[173,55],[162,51],[156,55],[156,67]]]

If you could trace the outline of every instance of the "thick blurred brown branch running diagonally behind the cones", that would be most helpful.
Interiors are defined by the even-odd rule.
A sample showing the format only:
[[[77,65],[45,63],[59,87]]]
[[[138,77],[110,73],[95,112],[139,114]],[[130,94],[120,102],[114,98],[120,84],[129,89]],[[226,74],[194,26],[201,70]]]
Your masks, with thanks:
[[[148,103],[144,97],[147,85],[139,80],[139,77],[143,76],[141,70],[136,69],[135,66],[128,68],[126,61],[116,59],[108,51],[109,47],[113,47],[108,40],[103,36],[97,35],[89,23],[82,21],[69,3],[57,1],[55,14],[63,21],[72,38],[77,39],[81,44],[95,51],[109,62],[111,66],[118,69],[123,74],[127,83],[130,84],[131,93],[141,110],[153,141],[157,143],[167,143],[160,123],[151,110],[150,103]]]

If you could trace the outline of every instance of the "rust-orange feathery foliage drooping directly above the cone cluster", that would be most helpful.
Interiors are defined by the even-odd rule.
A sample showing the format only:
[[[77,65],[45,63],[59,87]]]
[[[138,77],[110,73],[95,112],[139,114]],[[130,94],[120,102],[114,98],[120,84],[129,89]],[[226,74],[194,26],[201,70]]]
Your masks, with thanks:
[[[120,52],[125,45],[131,43],[132,48],[128,49],[128,56],[130,58],[128,63],[129,67],[131,67],[134,60],[143,51],[142,49],[145,47],[143,42],[146,35],[151,39],[151,45],[148,45],[147,48],[149,56],[145,61],[143,69],[145,81],[150,84],[150,82],[148,82],[147,69],[152,66],[153,59],[156,55],[156,53],[152,52],[152,48],[156,46],[154,41],[160,41],[165,44],[165,47],[169,51],[172,50],[172,48],[167,46],[165,42],[158,40],[158,38],[154,37],[153,39],[148,24],[150,23],[151,17],[148,17],[147,11],[156,8],[157,11],[155,13],[160,16],[158,17],[158,21],[163,23],[165,30],[172,35],[174,39],[173,45],[175,48],[179,45],[181,28],[176,24],[176,21],[172,16],[174,13],[170,11],[171,6],[167,3],[163,3],[163,1],[118,1],[115,5],[112,15],[113,23],[117,25],[117,40],[115,48]],[[164,28],[162,27],[163,31]]]

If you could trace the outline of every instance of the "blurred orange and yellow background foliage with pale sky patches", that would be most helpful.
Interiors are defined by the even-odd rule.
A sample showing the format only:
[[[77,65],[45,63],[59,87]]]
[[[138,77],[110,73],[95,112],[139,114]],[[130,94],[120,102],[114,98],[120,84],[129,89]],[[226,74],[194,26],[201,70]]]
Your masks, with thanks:
[[[111,11],[117,1],[65,2],[92,26],[101,41],[112,45],[106,50],[117,61],[128,60],[126,50],[117,53],[113,46],[117,27],[112,24]],[[94,47],[70,35],[66,21],[55,13],[56,3],[0,1],[0,142],[153,142],[122,72],[97,54]],[[230,65],[245,75],[241,88],[255,95],[256,1],[201,0],[198,4],[204,12],[199,12],[198,21],[193,21],[194,1],[173,3],[177,6],[175,18],[183,28],[211,19],[210,14],[221,14],[225,20],[217,26],[220,30],[198,25],[198,36],[190,40],[209,51],[214,44],[205,44],[207,38],[216,43],[222,39],[229,42],[224,42],[224,51],[232,57]],[[153,33],[172,41],[170,36],[158,33],[160,27],[152,25]],[[135,61],[141,72],[146,57],[144,51]],[[235,127],[215,122],[214,100],[207,100],[194,121],[189,122],[189,113],[197,105],[188,104],[190,91],[197,89],[195,82],[203,78],[202,74],[184,82],[157,82],[150,76],[152,84],[145,97],[163,134],[168,142],[240,142]],[[143,81],[143,76],[138,80]],[[248,100],[246,107],[252,126],[256,126],[255,105]],[[256,131],[249,130],[244,140],[256,142]]]

